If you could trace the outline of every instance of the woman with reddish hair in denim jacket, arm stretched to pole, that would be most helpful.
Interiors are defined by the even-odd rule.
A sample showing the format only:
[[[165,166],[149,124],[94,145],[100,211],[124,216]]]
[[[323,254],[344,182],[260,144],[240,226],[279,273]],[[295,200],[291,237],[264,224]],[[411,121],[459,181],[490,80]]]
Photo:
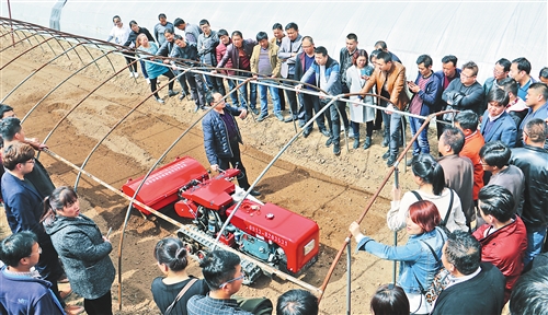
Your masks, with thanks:
[[[442,268],[442,247],[447,235],[437,228],[442,221],[436,206],[421,200],[409,207],[406,220],[408,243],[402,246],[388,246],[375,242],[359,232],[359,224],[353,222],[350,232],[357,242],[357,249],[368,252],[379,258],[400,261],[397,284],[408,296],[411,312],[429,314],[430,304],[425,292],[436,272]],[[375,313],[376,314],[376,313]]]

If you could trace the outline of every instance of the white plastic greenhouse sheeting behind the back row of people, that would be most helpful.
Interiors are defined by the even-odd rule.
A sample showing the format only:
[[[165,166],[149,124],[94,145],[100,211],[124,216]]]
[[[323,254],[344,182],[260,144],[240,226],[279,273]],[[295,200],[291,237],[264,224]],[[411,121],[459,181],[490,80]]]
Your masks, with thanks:
[[[12,18],[44,26],[55,1],[11,0]],[[8,16],[7,1],[1,1],[1,15]],[[113,26],[112,16],[124,23],[136,20],[152,32],[158,14],[168,21],[182,18],[197,24],[206,19],[213,30],[241,31],[254,38],[264,31],[272,35],[276,22],[296,22],[301,35],[312,36],[316,46],[326,46],[339,59],[345,36],[355,33],[358,47],[370,51],[381,39],[388,49],[409,69],[416,71],[419,55],[434,59],[434,70],[441,70],[445,55],[458,57],[458,65],[473,60],[479,66],[478,80],[492,75],[494,62],[526,57],[533,65],[532,75],[548,66],[546,1],[502,2],[162,2],[162,1],[77,1],[68,0],[62,8],[60,30],[105,39]]]

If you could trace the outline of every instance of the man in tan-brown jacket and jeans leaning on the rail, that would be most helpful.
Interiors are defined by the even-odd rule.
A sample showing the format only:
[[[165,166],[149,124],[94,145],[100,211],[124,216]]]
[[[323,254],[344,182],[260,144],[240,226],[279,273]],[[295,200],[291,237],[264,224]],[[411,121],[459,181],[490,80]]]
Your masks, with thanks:
[[[406,93],[406,67],[400,62],[392,61],[390,54],[383,51],[377,55],[375,61],[376,67],[369,80],[365,82],[364,88],[359,93],[369,92],[373,86],[376,86],[376,93],[390,100],[390,104],[380,101],[381,106],[386,106],[383,112],[383,120],[385,121],[385,130],[389,130],[389,149],[383,155],[383,159],[388,160],[387,166],[392,166],[399,151],[399,142],[402,140],[400,132],[402,130],[401,115],[392,113],[392,109],[404,110],[409,103],[408,94]],[[386,136],[386,132],[385,132]]]

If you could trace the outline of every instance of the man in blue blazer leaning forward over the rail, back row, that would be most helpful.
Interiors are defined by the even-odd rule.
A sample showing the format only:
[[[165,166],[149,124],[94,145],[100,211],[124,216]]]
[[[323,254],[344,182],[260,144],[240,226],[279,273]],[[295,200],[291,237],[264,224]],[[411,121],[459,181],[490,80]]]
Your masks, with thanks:
[[[328,49],[323,46],[319,46],[313,50],[315,62],[308,68],[307,72],[300,78],[301,83],[309,82],[309,78],[316,78],[316,84],[322,91],[329,95],[341,94],[341,78],[339,71],[339,62],[333,58],[329,57]],[[302,84],[296,86],[297,90],[302,89]],[[320,96],[321,104],[326,105],[331,98],[326,98]],[[322,106],[323,107],[323,106]],[[343,122],[347,124],[349,118],[346,117],[346,105],[341,101],[335,101],[330,105],[330,116],[331,116],[331,136],[326,142],[327,147],[333,144],[333,154],[341,154],[341,119]],[[310,117],[311,118],[311,117]],[[346,119],[345,119],[346,118]],[[345,124],[345,125],[346,125]],[[304,136],[308,137],[309,130],[305,130]]]

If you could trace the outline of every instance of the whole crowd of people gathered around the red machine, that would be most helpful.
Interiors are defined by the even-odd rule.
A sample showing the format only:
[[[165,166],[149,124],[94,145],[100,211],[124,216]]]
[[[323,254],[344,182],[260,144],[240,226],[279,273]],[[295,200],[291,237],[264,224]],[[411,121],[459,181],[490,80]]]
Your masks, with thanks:
[[[310,36],[300,35],[293,22],[285,27],[274,24],[272,38],[259,32],[255,38],[244,39],[239,31],[229,35],[226,30],[212,30],[207,20],[195,25],[178,18],[170,23],[163,13],[158,20],[150,33],[136,21],[125,26],[116,15],[107,39],[127,48],[123,54],[132,78],[139,77],[137,63],[141,65],[159,103],[164,101],[157,83],[164,75],[170,80],[170,97],[179,93],[181,100],[192,97],[195,110],[215,107],[203,119],[213,171],[231,164],[246,174],[239,153],[242,139],[233,117],[244,119],[251,112],[256,121],[269,118],[269,93],[274,117],[306,126],[305,138],[312,131],[312,124],[307,122],[331,101],[327,96],[353,93],[353,103],[335,101],[324,115],[317,115],[315,122],[328,137],[326,145],[341,154],[344,129],[357,150],[361,124],[365,124],[362,148],[367,150],[373,131],[384,125],[380,145],[388,148],[383,156],[388,166],[402,145],[407,127],[402,113],[414,115],[409,126],[413,136],[419,135],[408,166],[418,189],[401,196],[395,187],[387,212],[390,230],[407,228],[407,244],[384,245],[363,234],[356,222],[350,226],[359,250],[401,261],[397,283],[375,293],[374,314],[500,314],[507,301],[512,314],[545,312],[538,305],[546,305],[546,294],[530,288],[546,287],[548,279],[548,269],[538,262],[548,259],[541,254],[548,247],[548,68],[536,82],[526,58],[501,58],[493,77],[480,84],[473,61],[458,68],[457,57],[447,55],[443,69],[434,71],[432,58],[421,55],[415,61],[416,79],[406,81],[406,67],[385,42],[377,42],[368,54],[357,47],[353,33],[335,60],[326,47],[316,47]],[[186,71],[204,65],[215,70],[207,74]],[[225,80],[217,73],[251,81]],[[174,90],[175,77],[180,92]],[[284,84],[293,82],[294,91],[277,89],[279,78],[292,80]],[[235,89],[232,104],[225,103],[222,95]],[[283,115],[286,105],[288,117]],[[420,116],[447,109],[454,110],[437,119],[436,159],[431,155],[427,128],[419,132],[424,122]],[[88,314],[112,314],[115,270],[109,257],[110,240],[80,213],[73,189],[55,188],[34,158],[35,150],[45,147],[26,138],[13,116],[12,107],[1,105],[1,192],[13,234],[0,248],[5,264],[0,272],[4,283],[0,306],[18,314],[78,314],[83,308]],[[250,188],[247,176],[238,180],[242,188]],[[253,189],[249,192],[260,195]],[[176,238],[161,240],[153,257],[164,275],[151,287],[163,314],[273,312],[269,299],[233,296],[244,275],[239,256],[231,252],[208,253],[199,262],[202,280],[186,273],[187,253]],[[64,302],[66,294],[57,283],[65,278],[70,290],[84,298],[84,307]],[[275,308],[276,314],[317,314],[318,301],[308,291],[292,290],[279,296]]]

